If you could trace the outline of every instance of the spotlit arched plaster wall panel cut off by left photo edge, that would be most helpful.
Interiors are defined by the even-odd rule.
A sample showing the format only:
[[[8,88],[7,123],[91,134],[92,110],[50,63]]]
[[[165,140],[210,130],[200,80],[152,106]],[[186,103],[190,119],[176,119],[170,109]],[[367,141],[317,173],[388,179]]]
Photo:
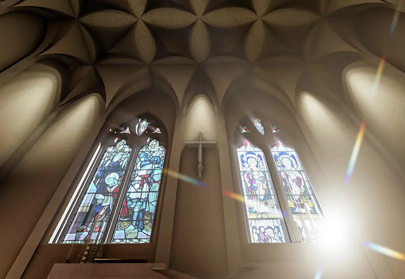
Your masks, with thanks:
[[[0,87],[0,166],[55,108],[60,84],[54,68],[34,64]]]

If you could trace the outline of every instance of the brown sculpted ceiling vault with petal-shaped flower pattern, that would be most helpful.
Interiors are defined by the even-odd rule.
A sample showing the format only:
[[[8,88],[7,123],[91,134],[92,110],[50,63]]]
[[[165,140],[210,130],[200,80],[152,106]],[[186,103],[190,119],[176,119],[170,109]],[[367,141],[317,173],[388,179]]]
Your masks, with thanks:
[[[0,11],[28,11],[52,20],[37,57],[59,59],[71,68],[74,84],[64,102],[101,85],[108,108],[128,88],[157,86],[163,77],[181,106],[190,83],[198,82],[192,77],[205,71],[219,104],[245,75],[256,87],[277,88],[278,98],[294,108],[298,81],[309,65],[336,53],[368,54],[339,11],[392,9],[395,3],[5,0]]]

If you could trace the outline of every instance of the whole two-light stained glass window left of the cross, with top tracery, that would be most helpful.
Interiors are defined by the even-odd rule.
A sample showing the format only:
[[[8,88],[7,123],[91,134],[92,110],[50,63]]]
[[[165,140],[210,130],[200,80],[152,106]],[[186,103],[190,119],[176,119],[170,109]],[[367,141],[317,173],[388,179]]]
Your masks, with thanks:
[[[150,242],[166,148],[156,136],[161,128],[148,124],[139,119],[133,132],[131,125],[110,130],[106,147],[98,145],[50,243],[82,243],[86,237],[96,243]]]

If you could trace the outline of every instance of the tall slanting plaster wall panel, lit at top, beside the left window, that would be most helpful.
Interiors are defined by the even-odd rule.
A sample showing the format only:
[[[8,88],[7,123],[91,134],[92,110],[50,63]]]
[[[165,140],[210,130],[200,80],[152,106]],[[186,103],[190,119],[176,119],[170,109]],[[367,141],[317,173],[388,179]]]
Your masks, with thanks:
[[[5,276],[98,117],[90,95],[62,111],[13,169],[0,194],[0,277]]]

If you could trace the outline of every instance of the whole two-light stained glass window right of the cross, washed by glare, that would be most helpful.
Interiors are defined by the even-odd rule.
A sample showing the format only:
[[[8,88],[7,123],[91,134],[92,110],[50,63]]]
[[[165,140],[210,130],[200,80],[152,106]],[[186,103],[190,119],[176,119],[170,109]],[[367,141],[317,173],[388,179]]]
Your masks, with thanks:
[[[247,126],[235,132],[242,142],[235,152],[249,242],[316,242],[322,212],[297,152],[278,140],[258,148],[248,138],[264,146],[274,138],[258,132]]]

